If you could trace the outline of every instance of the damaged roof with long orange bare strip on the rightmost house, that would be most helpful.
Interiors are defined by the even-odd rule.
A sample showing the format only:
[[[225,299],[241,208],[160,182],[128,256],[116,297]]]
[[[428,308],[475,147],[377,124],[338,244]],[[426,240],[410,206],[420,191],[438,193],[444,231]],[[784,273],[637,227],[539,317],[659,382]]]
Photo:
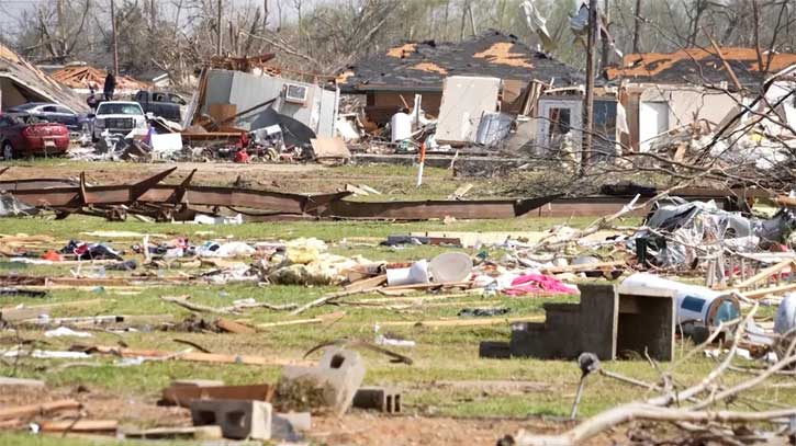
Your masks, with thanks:
[[[739,82],[744,85],[760,84],[769,75],[796,64],[796,54],[774,54],[767,72],[761,70],[758,52],[754,48],[719,48]],[[763,67],[769,55],[763,54]],[[644,83],[669,84],[717,84],[732,85],[721,58],[715,52],[702,48],[686,48],[675,53],[630,54],[623,59],[621,67],[610,67],[604,72],[608,80],[628,79]]]

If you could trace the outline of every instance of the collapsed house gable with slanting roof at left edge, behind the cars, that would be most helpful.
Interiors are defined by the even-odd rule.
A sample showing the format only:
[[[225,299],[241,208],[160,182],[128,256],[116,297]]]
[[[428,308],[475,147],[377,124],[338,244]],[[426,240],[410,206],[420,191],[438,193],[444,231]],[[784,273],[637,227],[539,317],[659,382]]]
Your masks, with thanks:
[[[0,112],[27,102],[55,102],[75,111],[86,110],[70,89],[0,44]]]

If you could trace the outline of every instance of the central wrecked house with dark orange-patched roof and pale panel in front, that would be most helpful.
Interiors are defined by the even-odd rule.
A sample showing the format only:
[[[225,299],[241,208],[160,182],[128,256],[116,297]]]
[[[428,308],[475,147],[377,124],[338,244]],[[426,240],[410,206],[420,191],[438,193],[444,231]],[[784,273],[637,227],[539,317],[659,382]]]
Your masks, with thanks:
[[[542,92],[584,78],[518,37],[489,30],[460,43],[404,42],[347,67],[337,82],[341,93],[366,96],[365,117],[377,126],[402,108],[419,108],[437,118],[437,141],[490,146],[518,121],[526,128],[516,131],[522,146],[537,134],[527,117]]]

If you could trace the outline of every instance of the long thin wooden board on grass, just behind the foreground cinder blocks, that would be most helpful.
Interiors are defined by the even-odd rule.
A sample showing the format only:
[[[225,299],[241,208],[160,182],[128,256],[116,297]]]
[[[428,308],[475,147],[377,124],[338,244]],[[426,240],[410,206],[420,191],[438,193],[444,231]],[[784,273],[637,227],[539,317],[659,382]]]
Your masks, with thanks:
[[[160,350],[124,348],[108,345],[79,347],[86,353],[112,354],[121,357],[144,357],[154,359],[188,361],[193,363],[246,364],[260,366],[306,365],[306,362],[283,358],[267,358],[254,355],[227,355],[220,353],[164,352]],[[1,413],[1,412],[0,412]]]

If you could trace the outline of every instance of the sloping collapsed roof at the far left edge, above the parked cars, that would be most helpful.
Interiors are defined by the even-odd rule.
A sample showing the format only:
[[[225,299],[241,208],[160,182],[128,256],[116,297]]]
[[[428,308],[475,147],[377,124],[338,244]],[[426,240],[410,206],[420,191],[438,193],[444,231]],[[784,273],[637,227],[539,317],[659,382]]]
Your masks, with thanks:
[[[0,78],[9,79],[16,84],[29,101],[52,101],[76,111],[87,108],[80,96],[2,44],[0,44]]]

